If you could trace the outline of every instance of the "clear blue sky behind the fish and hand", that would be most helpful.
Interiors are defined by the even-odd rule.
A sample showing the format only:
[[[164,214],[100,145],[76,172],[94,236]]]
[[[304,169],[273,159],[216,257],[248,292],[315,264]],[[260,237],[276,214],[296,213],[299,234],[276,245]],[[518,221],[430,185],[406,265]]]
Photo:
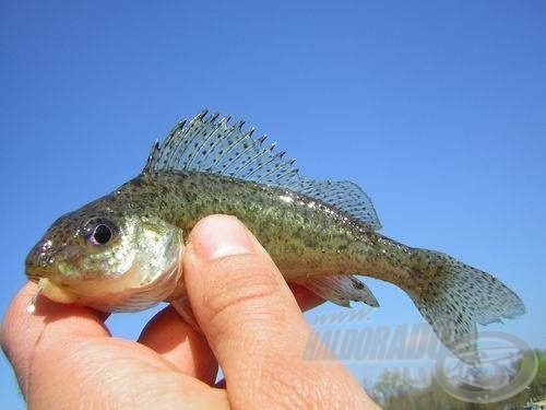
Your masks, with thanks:
[[[57,216],[136,175],[154,139],[209,107],[307,175],[361,185],[385,235],[494,272],[529,311],[494,328],[546,347],[545,2],[0,4],[2,312]],[[422,320],[368,283],[376,325]],[[142,324],[112,320],[122,336]],[[0,397],[22,407],[4,359]]]

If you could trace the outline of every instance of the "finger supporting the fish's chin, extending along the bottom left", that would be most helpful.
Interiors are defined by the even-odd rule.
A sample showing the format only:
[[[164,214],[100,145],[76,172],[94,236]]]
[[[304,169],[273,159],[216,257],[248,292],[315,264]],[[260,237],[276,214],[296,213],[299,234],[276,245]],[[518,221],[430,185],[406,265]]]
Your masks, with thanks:
[[[2,328],[2,348],[13,364],[28,408],[223,406],[225,393],[178,372],[151,349],[109,337],[102,315],[39,298],[27,284],[15,296]],[[69,388],[78,386],[78,388]]]

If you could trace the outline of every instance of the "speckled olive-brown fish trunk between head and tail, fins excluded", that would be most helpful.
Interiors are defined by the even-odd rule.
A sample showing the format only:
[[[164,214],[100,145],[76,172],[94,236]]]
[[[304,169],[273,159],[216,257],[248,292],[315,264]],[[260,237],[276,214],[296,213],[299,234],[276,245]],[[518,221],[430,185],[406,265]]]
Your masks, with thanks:
[[[182,234],[210,214],[237,216],[268,249],[286,280],[351,274],[366,263],[369,271],[381,270],[381,279],[395,282],[385,271],[388,265],[392,272],[396,270],[394,260],[383,263],[387,249],[391,254],[408,250],[328,203],[282,188],[178,172],[141,175],[130,184],[163,191],[164,206],[154,212],[179,226]]]

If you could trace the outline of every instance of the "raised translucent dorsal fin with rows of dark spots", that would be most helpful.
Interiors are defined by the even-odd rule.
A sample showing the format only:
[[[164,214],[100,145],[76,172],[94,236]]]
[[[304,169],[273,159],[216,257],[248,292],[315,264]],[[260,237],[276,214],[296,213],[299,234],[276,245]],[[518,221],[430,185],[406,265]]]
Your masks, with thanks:
[[[280,187],[329,203],[371,230],[381,227],[371,200],[357,185],[307,178],[275,143],[263,145],[265,136],[253,138],[253,128],[244,131],[245,121],[229,125],[229,117],[217,121],[218,114],[206,114],[180,121],[163,144],[156,142],[143,173],[207,172]]]

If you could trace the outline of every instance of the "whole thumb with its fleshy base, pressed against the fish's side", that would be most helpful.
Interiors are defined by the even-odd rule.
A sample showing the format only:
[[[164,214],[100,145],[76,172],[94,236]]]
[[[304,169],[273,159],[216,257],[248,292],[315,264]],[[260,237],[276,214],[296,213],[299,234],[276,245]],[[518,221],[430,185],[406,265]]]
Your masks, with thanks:
[[[236,408],[371,405],[337,363],[302,362],[310,328],[275,265],[235,218],[190,234],[185,283]]]

